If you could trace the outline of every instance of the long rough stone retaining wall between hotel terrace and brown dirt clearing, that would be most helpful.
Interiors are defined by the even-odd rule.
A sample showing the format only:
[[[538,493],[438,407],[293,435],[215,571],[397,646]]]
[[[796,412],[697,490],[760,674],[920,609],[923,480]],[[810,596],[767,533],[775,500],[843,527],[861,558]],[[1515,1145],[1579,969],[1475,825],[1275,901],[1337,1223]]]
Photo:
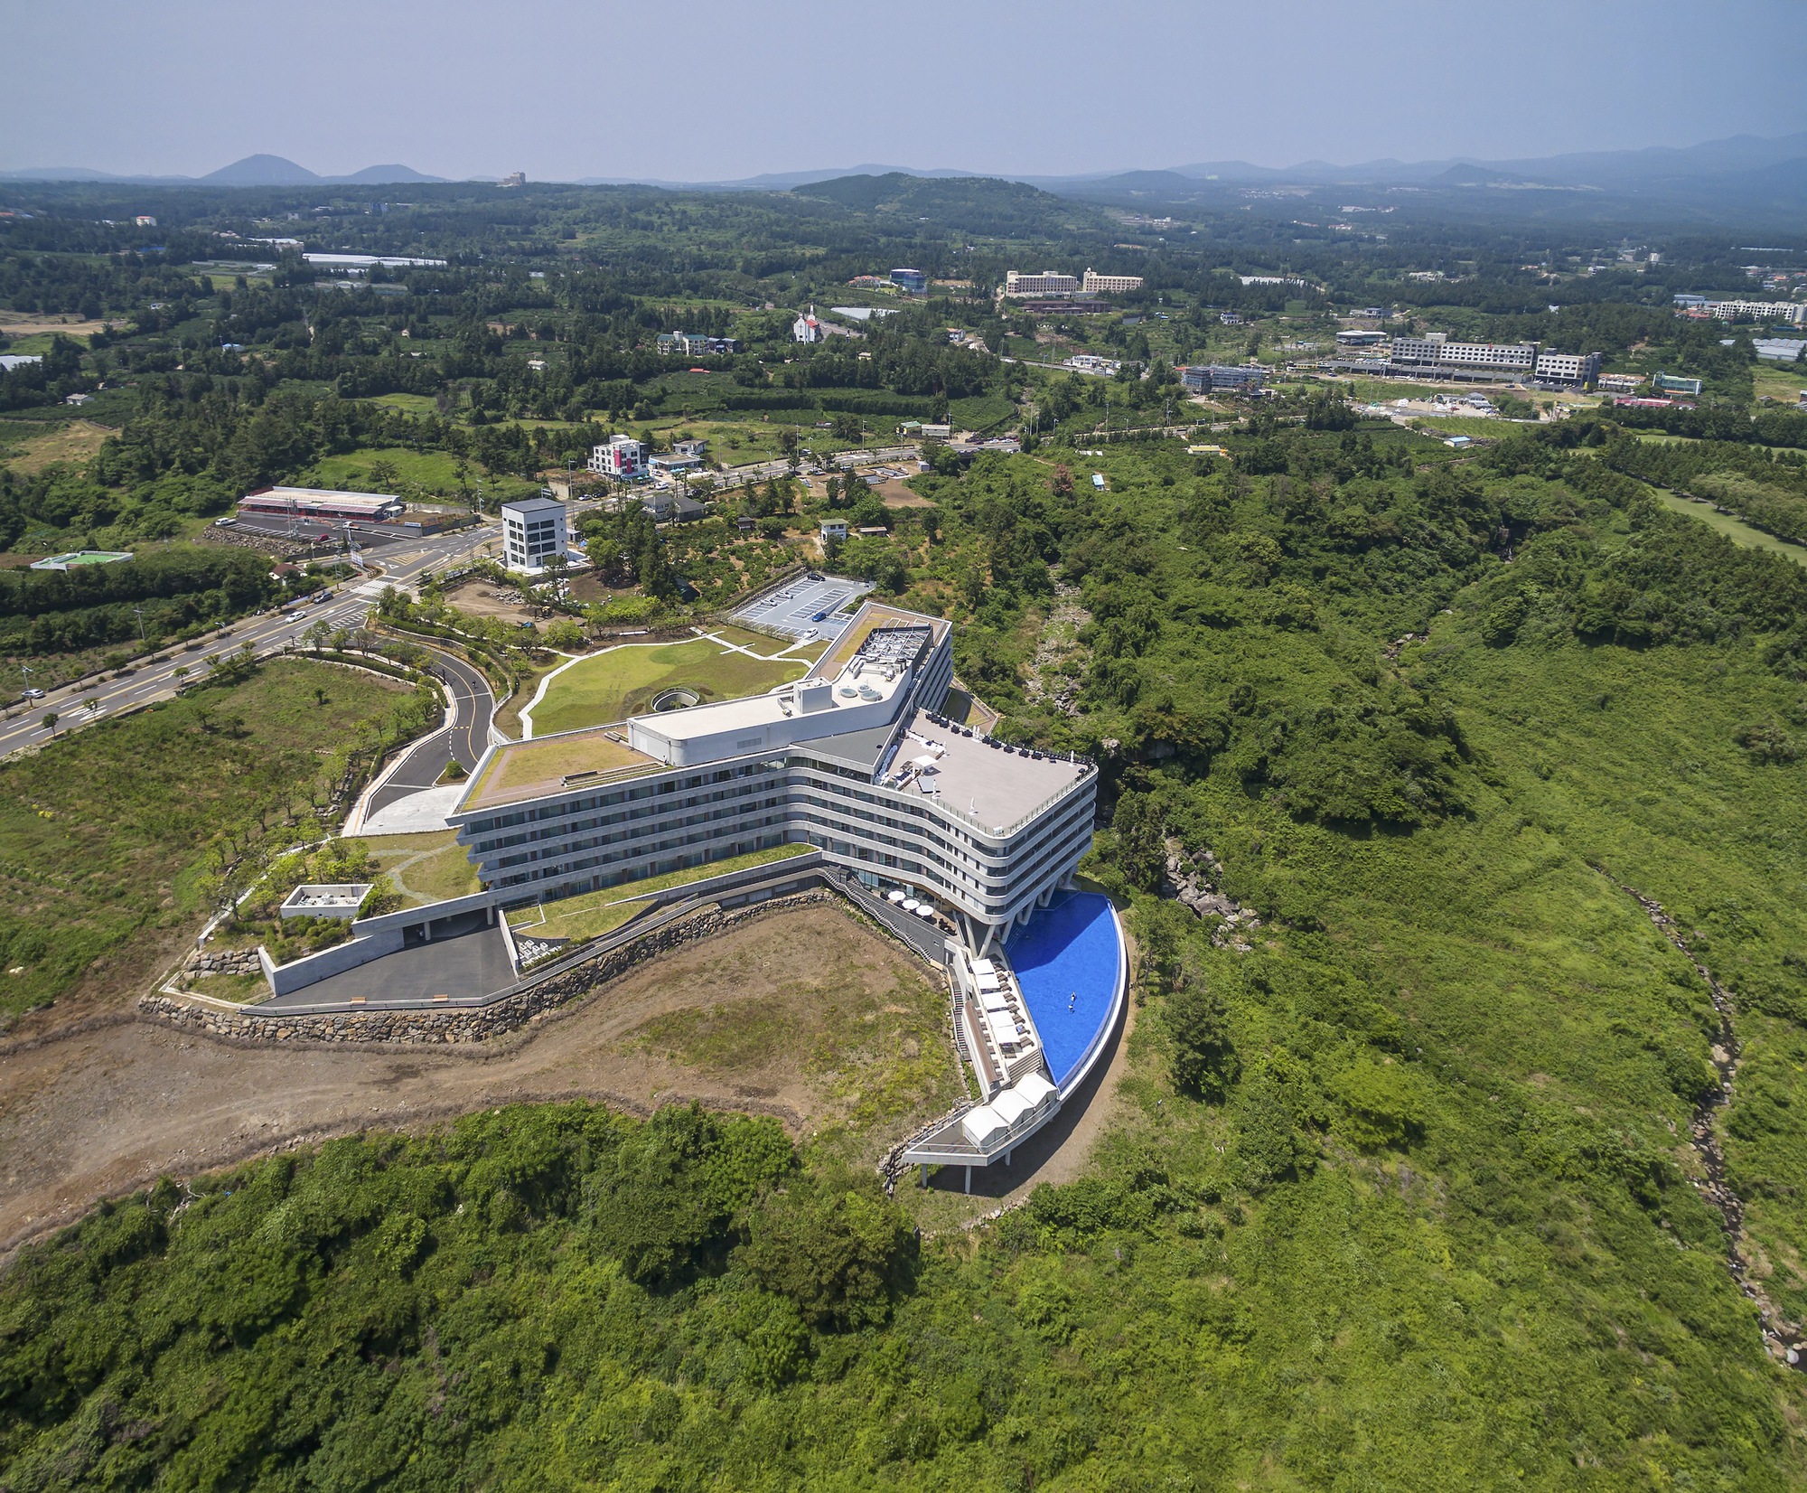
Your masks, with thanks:
[[[332,1010],[318,1014],[282,1016],[278,1012],[220,1010],[201,1007],[164,994],[141,996],[139,1014],[170,1027],[206,1032],[215,1038],[255,1043],[481,1043],[519,1030],[549,1010],[580,1000],[627,974],[634,965],[694,944],[714,938],[768,913],[806,907],[815,902],[833,902],[835,895],[822,887],[755,902],[750,907],[721,911],[707,907],[694,916],[651,929],[645,938],[611,949],[607,954],[542,980],[537,985],[511,991],[488,1005],[464,1007],[410,1007]]]

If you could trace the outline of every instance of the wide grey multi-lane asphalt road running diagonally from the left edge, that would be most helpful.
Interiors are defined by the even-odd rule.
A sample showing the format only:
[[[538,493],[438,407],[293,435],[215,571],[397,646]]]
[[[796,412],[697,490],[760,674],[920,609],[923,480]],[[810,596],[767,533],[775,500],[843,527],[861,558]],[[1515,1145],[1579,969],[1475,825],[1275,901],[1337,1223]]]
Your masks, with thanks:
[[[7,712],[0,716],[0,756],[16,752],[22,746],[36,746],[49,741],[52,732],[42,725],[47,710],[56,712],[58,721],[54,734],[63,736],[65,732],[80,730],[92,721],[105,721],[125,710],[136,710],[139,705],[170,700],[179,683],[188,678],[201,676],[208,658],[237,653],[246,643],[251,643],[258,656],[266,656],[282,653],[287,645],[300,643],[305,638],[307,629],[316,622],[325,622],[334,629],[356,627],[370,609],[383,586],[407,586],[414,582],[421,571],[441,569],[446,564],[461,560],[484,542],[495,540],[497,535],[497,528],[481,526],[475,530],[463,530],[459,533],[443,533],[414,540],[405,548],[387,546],[381,555],[381,575],[367,580],[340,582],[334,587],[331,600],[322,602],[320,606],[296,607],[295,616],[266,613],[262,616],[240,618],[239,622],[228,624],[220,629],[220,633],[197,640],[201,643],[199,647],[173,643],[161,649],[155,654],[159,662],[139,663],[134,672],[126,674],[123,680],[90,674],[87,680],[78,680],[72,685],[49,690],[43,700],[14,701]],[[365,595],[360,595],[360,591]],[[175,669],[188,671],[184,680],[175,678]],[[89,707],[90,700],[96,701],[98,709]],[[488,737],[488,716],[484,716],[482,739]],[[475,757],[472,761],[475,761]],[[441,766],[445,766],[445,761],[441,761]]]

